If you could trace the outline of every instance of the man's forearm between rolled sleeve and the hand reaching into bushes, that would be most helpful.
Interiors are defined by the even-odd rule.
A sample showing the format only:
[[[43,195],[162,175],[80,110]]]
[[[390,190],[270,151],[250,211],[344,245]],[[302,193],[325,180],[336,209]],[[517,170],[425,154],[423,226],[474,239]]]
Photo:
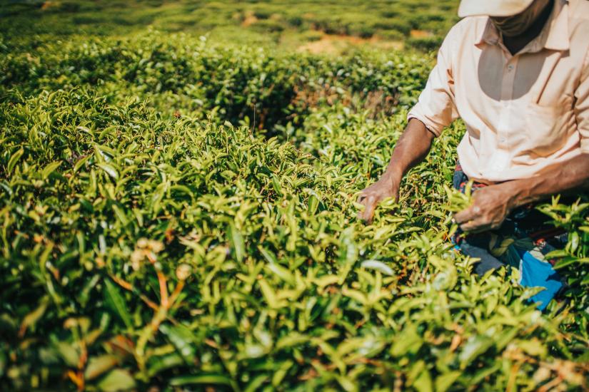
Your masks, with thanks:
[[[393,156],[388,163],[383,177],[394,182],[401,182],[403,175],[411,167],[421,163],[428,155],[434,135],[420,120],[412,118],[405,132],[399,138]]]

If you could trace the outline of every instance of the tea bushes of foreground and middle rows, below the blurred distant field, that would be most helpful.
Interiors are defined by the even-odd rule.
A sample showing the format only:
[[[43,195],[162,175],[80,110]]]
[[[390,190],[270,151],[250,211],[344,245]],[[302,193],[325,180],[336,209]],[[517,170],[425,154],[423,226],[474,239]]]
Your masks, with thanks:
[[[0,40],[0,388],[588,388],[586,200],[570,289],[453,250],[455,123],[371,225],[433,56],[139,36]]]

